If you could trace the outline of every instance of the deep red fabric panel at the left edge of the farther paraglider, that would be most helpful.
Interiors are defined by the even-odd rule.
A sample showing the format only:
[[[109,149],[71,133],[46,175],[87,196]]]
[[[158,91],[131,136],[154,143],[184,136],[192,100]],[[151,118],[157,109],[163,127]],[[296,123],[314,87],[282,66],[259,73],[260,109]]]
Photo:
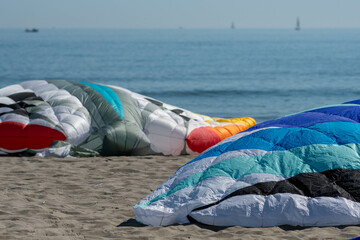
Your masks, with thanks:
[[[0,123],[0,148],[20,150],[47,148],[53,141],[64,141],[66,136],[55,129],[19,122]]]

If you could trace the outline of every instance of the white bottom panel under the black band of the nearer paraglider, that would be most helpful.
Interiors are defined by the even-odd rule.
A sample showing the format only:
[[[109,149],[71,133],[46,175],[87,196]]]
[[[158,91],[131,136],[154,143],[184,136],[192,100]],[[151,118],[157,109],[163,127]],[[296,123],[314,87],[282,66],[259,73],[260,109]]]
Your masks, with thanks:
[[[232,197],[218,205],[192,212],[197,221],[217,226],[271,227],[360,224],[360,203],[341,197],[309,198],[281,193]]]

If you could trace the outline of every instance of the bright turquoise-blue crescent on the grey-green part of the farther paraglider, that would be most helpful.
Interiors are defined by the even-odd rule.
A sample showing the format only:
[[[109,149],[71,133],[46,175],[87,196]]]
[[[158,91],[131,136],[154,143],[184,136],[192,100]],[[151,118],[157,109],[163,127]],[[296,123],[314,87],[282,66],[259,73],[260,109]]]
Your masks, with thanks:
[[[118,97],[118,95],[109,87],[102,86],[93,83],[80,82],[81,84],[87,85],[97,91],[98,93],[105,98],[105,100],[110,104],[110,106],[119,114],[119,116],[124,119],[124,109],[123,105]]]

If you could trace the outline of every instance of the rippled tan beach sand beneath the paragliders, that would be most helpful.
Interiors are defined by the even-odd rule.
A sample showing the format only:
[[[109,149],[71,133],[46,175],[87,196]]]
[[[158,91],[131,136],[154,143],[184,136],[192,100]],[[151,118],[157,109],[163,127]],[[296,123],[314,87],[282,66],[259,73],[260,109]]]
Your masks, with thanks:
[[[150,227],[132,207],[191,156],[0,159],[0,239],[346,239],[360,226]]]

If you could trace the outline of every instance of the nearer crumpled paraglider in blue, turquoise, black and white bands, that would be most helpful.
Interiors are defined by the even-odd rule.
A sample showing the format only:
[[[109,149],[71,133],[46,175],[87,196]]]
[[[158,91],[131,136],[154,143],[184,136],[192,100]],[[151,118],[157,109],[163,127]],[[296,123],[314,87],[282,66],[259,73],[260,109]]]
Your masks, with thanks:
[[[360,100],[285,116],[225,139],[135,207],[148,225],[360,224]]]

